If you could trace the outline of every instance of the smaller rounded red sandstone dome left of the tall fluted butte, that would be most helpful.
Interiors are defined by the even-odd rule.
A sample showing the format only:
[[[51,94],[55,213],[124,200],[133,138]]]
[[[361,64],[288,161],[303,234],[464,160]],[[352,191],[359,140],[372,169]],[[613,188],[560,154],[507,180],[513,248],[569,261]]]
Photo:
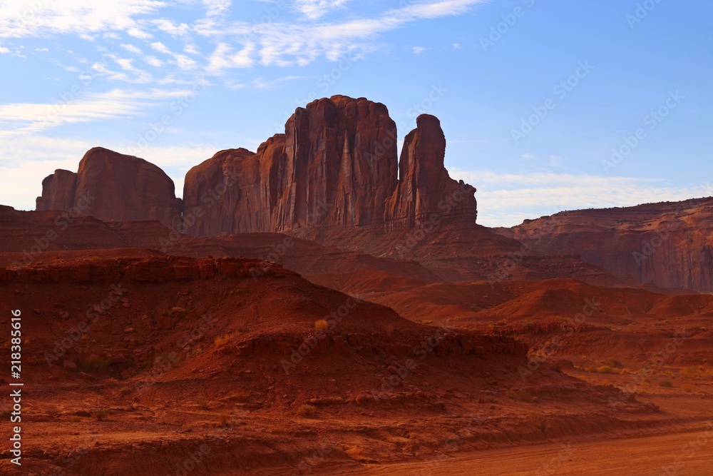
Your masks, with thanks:
[[[101,220],[178,221],[183,205],[173,181],[143,158],[90,149],[77,173],[58,170],[42,181],[37,210],[73,210]]]

